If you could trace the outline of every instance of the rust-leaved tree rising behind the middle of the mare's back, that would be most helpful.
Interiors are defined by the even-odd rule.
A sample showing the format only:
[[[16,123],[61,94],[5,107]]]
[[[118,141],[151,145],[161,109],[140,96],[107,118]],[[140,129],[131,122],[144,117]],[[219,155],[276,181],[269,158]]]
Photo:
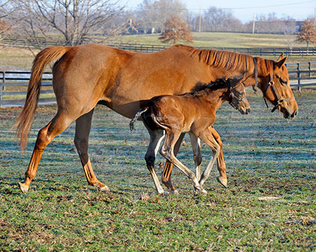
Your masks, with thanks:
[[[164,24],[165,31],[159,36],[162,43],[176,44],[178,41],[192,43],[193,38],[189,27],[178,16],[173,15]]]

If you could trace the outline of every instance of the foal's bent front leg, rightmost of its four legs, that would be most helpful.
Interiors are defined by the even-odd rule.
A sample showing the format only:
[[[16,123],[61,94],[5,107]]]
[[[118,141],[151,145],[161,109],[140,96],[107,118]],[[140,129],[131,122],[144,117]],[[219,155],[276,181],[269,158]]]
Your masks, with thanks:
[[[217,143],[217,141],[214,139],[211,129],[204,130],[204,132],[199,132],[199,138],[201,138],[205,144],[211,147],[212,152],[213,152],[213,156],[209,162],[209,165],[207,165],[205,171],[202,174],[201,179],[199,180],[199,184],[203,186],[206,179],[209,178],[209,174],[211,172],[211,169],[214,165],[216,158],[218,158],[218,155],[220,154],[220,146]]]

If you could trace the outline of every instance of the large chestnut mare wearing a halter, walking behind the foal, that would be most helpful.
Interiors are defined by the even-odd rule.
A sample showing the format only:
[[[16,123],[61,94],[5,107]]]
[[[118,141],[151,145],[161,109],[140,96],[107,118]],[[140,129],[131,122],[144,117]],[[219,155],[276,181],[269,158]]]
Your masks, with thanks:
[[[74,144],[88,184],[100,190],[108,189],[96,178],[88,157],[88,135],[96,104],[104,104],[122,116],[133,118],[154,96],[192,92],[224,75],[226,78],[244,75],[242,81],[246,86],[255,85],[257,79],[265,98],[274,105],[279,104],[277,109],[284,118],[294,118],[298,111],[295,99],[280,101],[294,97],[284,66],[286,59],[275,62],[237,52],[198,50],[185,45],[149,54],[95,44],[46,48],[34,59],[25,106],[14,125],[22,150],[27,144],[27,134],[34,119],[42,73],[53,62],[53,90],[58,111],[51,122],[39,130],[20,189],[27,192],[37,173],[44,148],[74,120]],[[268,88],[271,83],[273,89]],[[222,160],[223,152],[220,151],[218,170],[221,181],[227,184],[226,167]]]

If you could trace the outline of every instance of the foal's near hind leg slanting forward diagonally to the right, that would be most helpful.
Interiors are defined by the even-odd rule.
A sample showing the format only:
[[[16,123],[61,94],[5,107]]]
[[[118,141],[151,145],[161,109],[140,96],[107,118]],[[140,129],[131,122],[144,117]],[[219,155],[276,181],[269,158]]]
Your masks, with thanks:
[[[178,137],[180,136],[180,132],[166,132],[166,139],[164,140],[164,145],[162,146],[162,150],[160,153],[166,160],[169,160],[173,163],[173,165],[176,165],[180,169],[181,172],[183,172],[189,179],[193,181],[195,184],[195,189],[200,190],[202,193],[206,193],[206,190],[202,189],[202,187],[199,185],[199,181],[197,181],[197,177],[195,174],[185,167],[182,162],[180,162],[176,156],[173,153],[173,147],[176,144],[176,141],[178,140]]]

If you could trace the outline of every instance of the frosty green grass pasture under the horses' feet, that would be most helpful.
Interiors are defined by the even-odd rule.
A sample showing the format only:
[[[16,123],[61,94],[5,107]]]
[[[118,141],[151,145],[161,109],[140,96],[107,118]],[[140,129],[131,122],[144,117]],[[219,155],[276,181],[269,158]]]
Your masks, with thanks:
[[[216,182],[214,167],[208,195],[195,195],[176,168],[180,195],[156,195],[143,160],[143,125],[131,133],[129,119],[104,106],[93,116],[89,152],[110,193],[87,185],[72,124],[46,148],[23,195],[18,182],[55,106],[39,107],[25,153],[8,132],[21,109],[0,109],[0,251],[315,251],[316,92],[295,93],[294,120],[266,111],[251,90],[247,95],[249,115],[228,104],[218,111],[214,127],[224,143],[229,188]],[[185,142],[179,158],[193,167]],[[202,152],[205,167],[211,152],[206,146]],[[160,155],[157,162],[164,162]]]

